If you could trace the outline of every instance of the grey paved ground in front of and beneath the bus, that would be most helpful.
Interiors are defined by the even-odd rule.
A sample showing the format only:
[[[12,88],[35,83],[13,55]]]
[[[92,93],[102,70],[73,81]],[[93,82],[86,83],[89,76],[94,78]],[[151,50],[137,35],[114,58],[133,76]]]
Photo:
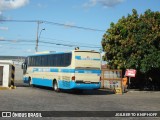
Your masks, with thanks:
[[[160,92],[115,95],[97,90],[75,94],[25,85],[0,91],[0,111],[159,111],[159,108]]]

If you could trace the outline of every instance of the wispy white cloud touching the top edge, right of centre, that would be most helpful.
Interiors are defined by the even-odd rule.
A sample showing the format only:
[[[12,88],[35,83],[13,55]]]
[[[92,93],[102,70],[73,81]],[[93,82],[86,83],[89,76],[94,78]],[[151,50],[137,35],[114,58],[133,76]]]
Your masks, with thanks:
[[[89,0],[87,3],[83,4],[84,8],[94,7],[97,4],[101,4],[104,7],[113,7],[122,3],[124,0]]]

